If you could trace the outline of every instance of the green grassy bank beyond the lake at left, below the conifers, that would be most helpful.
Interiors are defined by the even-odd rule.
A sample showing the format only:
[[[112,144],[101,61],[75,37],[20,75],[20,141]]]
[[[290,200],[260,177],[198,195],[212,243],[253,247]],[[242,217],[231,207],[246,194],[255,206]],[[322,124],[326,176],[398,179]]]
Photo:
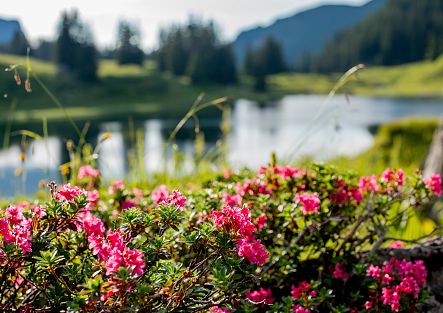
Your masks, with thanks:
[[[0,68],[10,64],[25,64],[25,59],[17,56],[1,55]],[[77,120],[120,119],[133,117],[182,117],[198,97],[205,94],[205,100],[226,95],[232,98],[269,98],[257,95],[242,87],[191,86],[186,78],[174,78],[155,71],[153,62],[143,67],[119,66],[114,61],[102,61],[99,66],[97,83],[80,84],[65,76],[55,78],[55,67],[46,62],[31,60],[32,69],[48,88],[60,99],[69,116]],[[25,77],[21,70],[22,80]],[[49,121],[63,121],[65,116],[50,101],[48,96],[31,79],[33,92],[27,94],[17,86],[11,72],[0,72],[0,114],[5,116],[13,99],[17,100],[14,112],[16,122],[41,121],[46,116]],[[215,110],[203,112],[211,116]]]

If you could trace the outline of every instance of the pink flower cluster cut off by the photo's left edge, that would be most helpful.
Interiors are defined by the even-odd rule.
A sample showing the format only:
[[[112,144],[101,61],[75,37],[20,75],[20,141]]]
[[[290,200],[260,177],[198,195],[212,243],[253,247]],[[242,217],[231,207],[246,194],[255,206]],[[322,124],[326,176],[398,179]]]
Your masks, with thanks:
[[[3,247],[3,242],[8,244],[14,244],[16,247],[20,247],[23,254],[31,252],[31,219],[28,219],[24,213],[25,206],[9,206],[4,211],[4,217],[0,218],[0,235],[2,242],[0,247]],[[36,215],[46,214],[44,210],[36,210]],[[37,216],[38,216],[37,215]],[[0,255],[3,255],[1,250]]]

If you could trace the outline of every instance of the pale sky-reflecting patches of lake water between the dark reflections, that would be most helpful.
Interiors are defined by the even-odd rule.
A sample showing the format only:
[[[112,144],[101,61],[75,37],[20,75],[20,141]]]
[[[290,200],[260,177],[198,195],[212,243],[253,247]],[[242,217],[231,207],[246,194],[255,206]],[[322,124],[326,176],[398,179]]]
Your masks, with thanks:
[[[338,155],[352,156],[368,149],[373,143],[370,128],[409,116],[437,117],[443,113],[442,100],[386,99],[336,96],[296,95],[260,105],[239,100],[231,113],[231,132],[227,138],[228,161],[234,168],[258,167],[269,161],[276,152],[279,159],[295,160],[311,156],[325,160]],[[144,130],[144,156],[148,171],[163,166],[162,147],[165,138],[178,120],[147,120]],[[215,145],[220,120],[201,120],[201,129],[207,134],[207,147]],[[180,151],[185,153],[185,164],[191,169],[194,137],[192,123],[177,137]],[[111,138],[103,142],[99,166],[107,178],[117,179],[127,170],[127,147],[124,127],[119,122],[99,125],[100,133],[109,132]],[[40,180],[57,180],[57,167],[63,160],[65,144],[56,136],[32,142],[27,148],[25,176],[17,176],[20,148],[12,145],[0,151],[0,196],[33,193]],[[65,160],[66,161],[66,160]]]

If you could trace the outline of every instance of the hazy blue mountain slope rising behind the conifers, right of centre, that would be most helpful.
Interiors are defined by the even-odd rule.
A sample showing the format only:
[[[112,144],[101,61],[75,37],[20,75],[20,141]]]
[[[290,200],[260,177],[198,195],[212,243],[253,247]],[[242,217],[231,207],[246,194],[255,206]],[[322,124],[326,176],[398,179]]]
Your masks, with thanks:
[[[385,0],[372,0],[362,6],[323,5],[306,10],[270,26],[241,32],[233,43],[234,53],[242,63],[248,47],[255,48],[272,36],[282,45],[285,61],[292,65],[305,53],[321,51],[337,32],[358,24],[384,4]]]

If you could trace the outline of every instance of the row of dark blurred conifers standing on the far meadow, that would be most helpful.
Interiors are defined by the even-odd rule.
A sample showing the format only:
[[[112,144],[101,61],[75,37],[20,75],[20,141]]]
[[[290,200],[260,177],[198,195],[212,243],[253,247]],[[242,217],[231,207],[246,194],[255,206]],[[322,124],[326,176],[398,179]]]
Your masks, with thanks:
[[[17,39],[18,41],[18,39]],[[28,42],[14,44],[13,54],[25,54]],[[189,18],[183,24],[164,27],[159,32],[158,48],[146,54],[141,48],[141,33],[128,21],[120,21],[116,44],[98,50],[89,26],[76,11],[63,12],[54,41],[41,40],[32,56],[54,61],[58,75],[92,82],[98,79],[99,59],[115,59],[119,64],[142,66],[146,58],[156,61],[157,69],[174,76],[187,76],[194,85],[234,85],[239,74],[250,75],[254,88],[266,90],[266,76],[285,70],[279,42],[269,37],[251,47],[244,64],[238,65],[231,43],[221,39],[217,25],[209,20]]]

